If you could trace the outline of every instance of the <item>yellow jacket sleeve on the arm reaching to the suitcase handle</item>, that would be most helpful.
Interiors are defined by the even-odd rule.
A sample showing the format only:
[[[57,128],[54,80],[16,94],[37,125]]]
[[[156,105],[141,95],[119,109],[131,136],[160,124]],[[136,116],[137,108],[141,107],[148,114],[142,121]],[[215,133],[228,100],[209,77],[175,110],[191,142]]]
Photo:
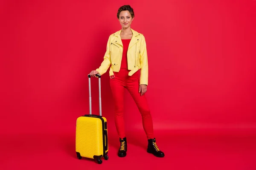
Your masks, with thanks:
[[[99,71],[99,74],[105,74],[106,71],[108,70],[109,66],[111,65],[111,60],[110,60],[110,36],[108,37],[108,43],[107,43],[107,49],[105,52],[105,55],[103,57],[103,61],[99,68],[96,69],[96,71]]]

